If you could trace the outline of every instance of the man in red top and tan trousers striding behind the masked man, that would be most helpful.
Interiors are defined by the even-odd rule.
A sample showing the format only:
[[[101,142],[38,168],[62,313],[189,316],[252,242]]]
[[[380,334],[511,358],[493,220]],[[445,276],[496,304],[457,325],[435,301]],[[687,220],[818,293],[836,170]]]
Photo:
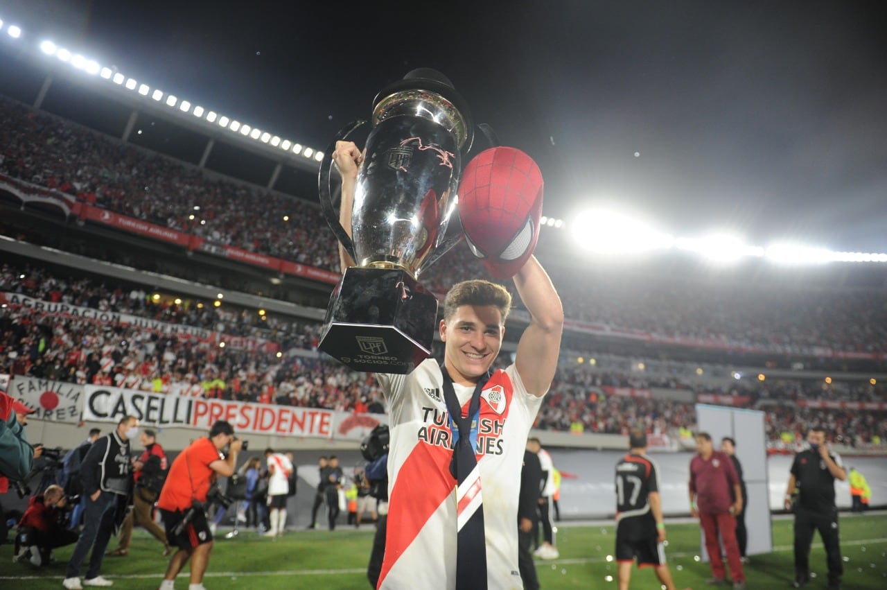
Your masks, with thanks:
[[[120,532],[120,542],[114,551],[108,553],[112,557],[126,557],[130,555],[130,540],[132,540],[132,528],[135,524],[145,527],[154,539],[163,544],[163,556],[172,553],[172,547],[167,542],[166,532],[151,517],[151,508],[157,497],[160,496],[163,482],[166,479],[167,458],[163,447],[157,443],[157,433],[152,429],[142,432],[141,441],[145,451],[132,462],[135,470],[133,479],[136,489],[132,494],[132,510],[126,515]]]

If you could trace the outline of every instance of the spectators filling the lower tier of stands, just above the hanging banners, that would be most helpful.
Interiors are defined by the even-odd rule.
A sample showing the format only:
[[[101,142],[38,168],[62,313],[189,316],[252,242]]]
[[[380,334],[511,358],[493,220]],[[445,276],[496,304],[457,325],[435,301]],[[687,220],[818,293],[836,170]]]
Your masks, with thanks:
[[[33,267],[0,267],[0,292],[62,302],[101,311],[128,313],[164,323],[200,326],[222,334],[249,335],[277,342],[283,350],[312,350],[319,325],[235,311],[232,306],[197,307],[192,302],[155,302],[140,288],[53,276]],[[384,399],[373,377],[350,372],[334,362],[267,350],[221,348],[216,340],[159,334],[94,319],[58,317],[20,307],[0,310],[0,373],[62,382],[116,385],[173,395],[323,407],[383,413]],[[687,374],[690,368],[687,366]],[[883,384],[812,379],[767,382],[716,380],[616,371],[593,371],[564,364],[538,416],[538,428],[624,434],[635,426],[651,433],[692,429],[692,403],[670,399],[608,396],[605,389],[688,390],[748,397],[765,405],[773,440],[803,431],[810,421],[828,424],[837,437],[867,444],[887,435],[887,413],[795,408],[798,400],[883,402]]]

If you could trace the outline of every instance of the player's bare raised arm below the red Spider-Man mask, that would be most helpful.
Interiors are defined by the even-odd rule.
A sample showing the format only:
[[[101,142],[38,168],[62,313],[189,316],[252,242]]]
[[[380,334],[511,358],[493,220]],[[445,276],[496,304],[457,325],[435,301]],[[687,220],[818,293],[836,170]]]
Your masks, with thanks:
[[[517,345],[515,366],[524,387],[536,397],[545,395],[557,369],[563,332],[563,306],[551,279],[536,256],[514,275],[514,287],[530,312],[530,326]]]

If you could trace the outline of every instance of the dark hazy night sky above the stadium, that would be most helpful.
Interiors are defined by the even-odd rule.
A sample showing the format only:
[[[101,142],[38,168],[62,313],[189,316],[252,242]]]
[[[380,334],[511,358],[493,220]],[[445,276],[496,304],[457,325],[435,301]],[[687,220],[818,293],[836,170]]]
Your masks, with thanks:
[[[881,4],[0,0],[0,16],[321,149],[435,67],[538,161],[548,216],[605,203],[678,235],[887,252]]]

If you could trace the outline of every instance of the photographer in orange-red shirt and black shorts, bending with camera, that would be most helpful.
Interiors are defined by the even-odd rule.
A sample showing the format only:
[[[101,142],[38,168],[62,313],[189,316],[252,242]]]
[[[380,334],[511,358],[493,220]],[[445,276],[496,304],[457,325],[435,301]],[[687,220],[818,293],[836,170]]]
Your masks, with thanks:
[[[204,590],[203,574],[209,564],[213,533],[209,530],[206,507],[217,494],[217,476],[234,474],[243,441],[234,437],[229,422],[216,421],[208,437],[195,440],[169,468],[157,507],[166,525],[167,539],[178,550],[169,560],[161,590],[172,590],[178,572],[191,560],[189,590]],[[227,457],[223,454],[228,448]],[[210,488],[212,487],[212,491]]]

